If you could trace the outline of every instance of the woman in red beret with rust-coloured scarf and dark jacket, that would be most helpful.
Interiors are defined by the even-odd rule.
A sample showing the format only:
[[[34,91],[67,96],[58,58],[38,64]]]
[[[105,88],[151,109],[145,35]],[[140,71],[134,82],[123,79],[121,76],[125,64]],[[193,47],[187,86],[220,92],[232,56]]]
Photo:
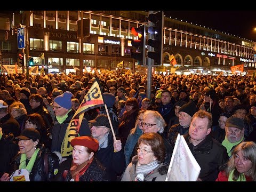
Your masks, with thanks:
[[[105,167],[94,154],[99,149],[98,140],[82,136],[71,140],[73,158],[60,164],[55,181],[108,181]]]

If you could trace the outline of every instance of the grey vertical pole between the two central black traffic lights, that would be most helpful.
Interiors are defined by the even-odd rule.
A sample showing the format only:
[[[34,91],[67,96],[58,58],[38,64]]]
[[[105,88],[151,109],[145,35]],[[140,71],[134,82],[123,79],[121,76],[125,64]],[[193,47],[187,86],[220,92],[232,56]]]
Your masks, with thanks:
[[[154,13],[154,11],[149,11],[148,15]],[[154,26],[154,23],[151,21],[148,21],[148,26]],[[153,38],[152,34],[148,33],[148,39],[149,38]],[[153,47],[148,45],[148,51],[153,51]],[[146,58],[147,59],[147,64],[148,64],[148,73],[147,73],[147,98],[150,99],[150,94],[151,94],[151,84],[152,84],[152,66],[153,66],[153,60],[150,58]],[[144,63],[145,64],[145,63]]]

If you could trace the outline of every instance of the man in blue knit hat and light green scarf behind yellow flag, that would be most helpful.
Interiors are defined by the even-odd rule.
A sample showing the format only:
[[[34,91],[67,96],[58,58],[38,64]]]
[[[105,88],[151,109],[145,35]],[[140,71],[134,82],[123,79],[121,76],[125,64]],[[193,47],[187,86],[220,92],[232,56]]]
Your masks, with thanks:
[[[52,151],[60,152],[62,141],[65,138],[69,122],[73,118],[75,111],[72,109],[72,101],[74,95],[66,91],[55,97],[52,108],[55,113],[54,125],[51,129],[52,134]],[[78,132],[79,136],[91,136],[90,127],[85,118],[83,118]],[[72,155],[70,156],[72,158]]]

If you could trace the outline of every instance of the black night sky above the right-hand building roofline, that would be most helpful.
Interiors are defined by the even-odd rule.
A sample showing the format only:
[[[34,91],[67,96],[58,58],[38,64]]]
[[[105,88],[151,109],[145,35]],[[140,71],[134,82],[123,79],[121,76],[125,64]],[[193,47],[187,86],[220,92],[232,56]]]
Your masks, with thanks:
[[[223,33],[235,35],[252,41],[256,41],[256,11],[190,11],[174,10],[164,11],[166,17],[192,22],[193,24],[223,31]]]

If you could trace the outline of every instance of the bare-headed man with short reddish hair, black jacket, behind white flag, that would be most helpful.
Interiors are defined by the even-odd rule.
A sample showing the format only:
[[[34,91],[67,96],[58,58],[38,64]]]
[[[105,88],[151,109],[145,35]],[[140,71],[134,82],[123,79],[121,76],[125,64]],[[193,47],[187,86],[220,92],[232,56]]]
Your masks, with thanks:
[[[209,135],[211,121],[210,113],[197,111],[192,117],[188,134],[184,135],[191,153],[201,167],[198,181],[215,181],[219,167],[228,161],[225,147]]]

